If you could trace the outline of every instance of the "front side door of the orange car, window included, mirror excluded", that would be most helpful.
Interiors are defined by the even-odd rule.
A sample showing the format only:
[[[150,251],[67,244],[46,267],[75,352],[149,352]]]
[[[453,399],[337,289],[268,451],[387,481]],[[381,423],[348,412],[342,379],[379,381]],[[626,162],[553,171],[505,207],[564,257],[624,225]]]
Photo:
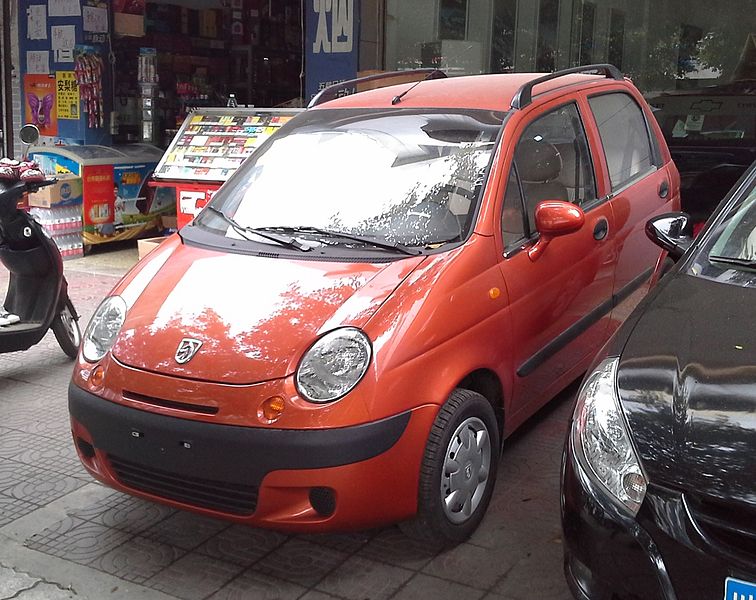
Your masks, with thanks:
[[[513,427],[604,342],[614,282],[614,216],[610,203],[599,199],[603,190],[577,103],[551,103],[515,137],[502,194],[499,263],[513,331]],[[535,207],[554,199],[581,206],[585,225],[553,239],[533,261],[527,249],[538,239]]]

